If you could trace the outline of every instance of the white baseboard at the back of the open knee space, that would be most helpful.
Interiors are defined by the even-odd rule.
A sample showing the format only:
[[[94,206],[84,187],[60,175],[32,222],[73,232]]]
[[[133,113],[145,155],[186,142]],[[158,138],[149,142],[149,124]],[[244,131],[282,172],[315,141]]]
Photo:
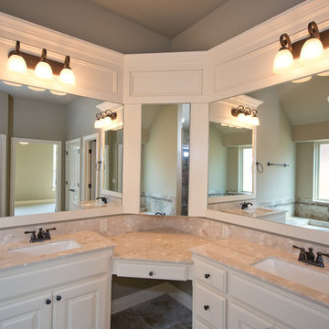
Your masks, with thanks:
[[[148,289],[144,289],[140,292],[134,292],[128,296],[123,296],[111,302],[111,313],[115,314],[122,312],[128,308],[136,306],[141,302],[150,301],[156,297],[159,297],[167,293],[174,298],[177,302],[180,302],[186,306],[189,310],[192,310],[192,297],[186,292],[182,292],[169,282],[164,282],[153,286]]]

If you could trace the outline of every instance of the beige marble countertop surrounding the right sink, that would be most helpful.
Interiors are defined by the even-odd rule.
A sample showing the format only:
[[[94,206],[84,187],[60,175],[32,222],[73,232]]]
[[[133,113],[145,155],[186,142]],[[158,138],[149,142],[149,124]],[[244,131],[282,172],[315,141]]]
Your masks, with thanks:
[[[294,281],[283,279],[277,275],[267,271],[261,271],[252,266],[252,264],[264,260],[265,258],[276,257],[307,269],[311,267],[310,270],[320,271],[329,275],[328,268],[320,269],[312,265],[303,264],[301,261],[297,260],[298,256],[295,254],[263,247],[259,244],[241,239],[224,239],[210,242],[206,245],[192,248],[191,251],[209,260],[215,260],[228,268],[243,272],[260,281],[270,283],[286,292],[292,292],[311,302],[317,302],[325,307],[329,307],[329,294],[319,292]]]

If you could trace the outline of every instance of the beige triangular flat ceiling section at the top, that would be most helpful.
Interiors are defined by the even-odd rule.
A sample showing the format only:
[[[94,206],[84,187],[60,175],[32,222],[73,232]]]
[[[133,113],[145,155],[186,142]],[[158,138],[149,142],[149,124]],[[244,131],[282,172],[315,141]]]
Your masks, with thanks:
[[[175,37],[228,0],[88,0],[164,37]]]

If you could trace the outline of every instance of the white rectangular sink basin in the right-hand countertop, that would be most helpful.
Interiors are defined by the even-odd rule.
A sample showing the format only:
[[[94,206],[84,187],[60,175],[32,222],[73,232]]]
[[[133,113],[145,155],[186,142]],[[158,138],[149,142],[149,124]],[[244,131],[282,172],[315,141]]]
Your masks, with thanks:
[[[329,275],[292,264],[285,260],[269,257],[252,265],[253,267],[313,288],[319,292],[329,293]],[[312,265],[309,265],[310,267]]]

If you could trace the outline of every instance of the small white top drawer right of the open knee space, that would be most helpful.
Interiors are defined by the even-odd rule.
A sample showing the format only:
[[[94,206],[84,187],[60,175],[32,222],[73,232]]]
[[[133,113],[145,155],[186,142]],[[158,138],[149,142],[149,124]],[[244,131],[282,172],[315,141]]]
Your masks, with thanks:
[[[196,278],[220,292],[227,292],[227,271],[202,260],[195,263]]]

